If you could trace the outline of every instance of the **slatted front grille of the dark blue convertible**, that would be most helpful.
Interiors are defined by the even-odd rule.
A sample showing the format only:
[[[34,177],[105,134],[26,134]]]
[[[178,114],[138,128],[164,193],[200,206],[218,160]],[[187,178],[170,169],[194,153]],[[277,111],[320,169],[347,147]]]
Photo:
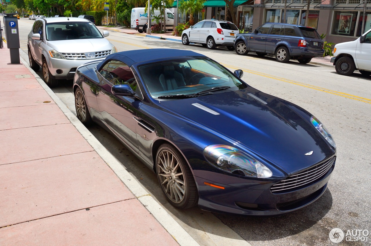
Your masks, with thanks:
[[[331,169],[334,164],[336,156],[331,159],[321,162],[309,169],[296,173],[283,179],[279,183],[272,185],[270,191],[274,194],[296,191],[298,189],[305,188],[319,179],[321,179]]]

